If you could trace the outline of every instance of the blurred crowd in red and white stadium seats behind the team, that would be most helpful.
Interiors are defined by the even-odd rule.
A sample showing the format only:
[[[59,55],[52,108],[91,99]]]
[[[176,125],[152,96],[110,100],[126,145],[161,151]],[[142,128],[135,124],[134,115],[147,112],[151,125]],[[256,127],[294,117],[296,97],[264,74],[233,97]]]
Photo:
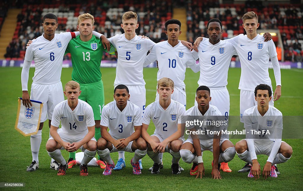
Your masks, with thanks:
[[[211,18],[222,21],[222,39],[231,38],[245,33],[242,27],[242,15],[247,11],[255,11],[259,17],[259,29],[279,29],[282,37],[285,61],[302,61],[303,51],[303,23],[302,5],[270,5],[262,6],[261,3],[246,2],[246,4],[224,4],[218,1],[181,1],[187,8],[187,40],[193,43],[198,36],[207,37],[206,24]],[[113,0],[109,2],[92,0],[84,3],[80,0],[65,1],[63,4],[50,4],[44,1],[42,5],[36,5],[36,1],[23,4],[22,13],[17,17],[18,24],[12,42],[7,47],[7,58],[24,58],[26,42],[29,39],[42,35],[42,17],[45,8],[59,13],[57,32],[77,31],[76,20],[69,22],[64,15],[78,15],[89,12],[95,17],[95,30],[111,37],[122,34],[121,17],[126,11],[134,11],[138,14],[139,28],[136,33],[148,36],[155,43],[166,40],[164,33],[165,21],[172,17],[172,2],[153,0],[142,3],[139,0],[125,1]],[[1,9],[1,8],[0,8]],[[46,12],[47,13],[47,12]],[[1,15],[5,12],[1,12]],[[63,15],[63,16],[62,16]],[[65,59],[70,59],[69,55]],[[115,59],[114,56],[105,54],[103,59]]]

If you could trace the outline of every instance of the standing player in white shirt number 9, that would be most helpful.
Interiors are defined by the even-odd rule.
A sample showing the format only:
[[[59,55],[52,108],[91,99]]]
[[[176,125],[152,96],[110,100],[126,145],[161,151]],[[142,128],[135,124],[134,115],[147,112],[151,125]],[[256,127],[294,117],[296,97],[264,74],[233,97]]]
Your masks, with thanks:
[[[230,101],[226,88],[228,68],[233,55],[237,55],[236,49],[231,43],[220,40],[222,34],[222,23],[219,19],[211,19],[207,23],[209,40],[198,46],[198,52],[192,51],[195,60],[199,59],[200,77],[199,87],[204,85],[211,90],[211,105],[216,106],[225,120],[228,120]],[[197,100],[197,97],[196,97]],[[195,105],[197,102],[195,101]],[[225,126],[225,129],[227,129]],[[228,135],[225,138],[229,138]],[[231,172],[228,163],[222,162],[220,167],[223,172]]]

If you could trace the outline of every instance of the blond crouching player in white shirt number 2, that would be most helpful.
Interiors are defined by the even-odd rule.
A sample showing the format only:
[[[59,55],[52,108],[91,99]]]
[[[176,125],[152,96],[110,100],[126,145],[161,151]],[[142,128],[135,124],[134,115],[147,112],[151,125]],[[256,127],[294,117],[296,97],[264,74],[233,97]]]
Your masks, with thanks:
[[[185,107],[171,99],[174,82],[169,78],[158,80],[159,100],[146,107],[142,121],[142,137],[148,142],[148,156],[154,161],[151,174],[160,173],[159,153],[169,152],[172,155],[171,173],[180,174],[180,147],[184,141]],[[150,121],[155,124],[155,132],[149,136],[147,129]]]

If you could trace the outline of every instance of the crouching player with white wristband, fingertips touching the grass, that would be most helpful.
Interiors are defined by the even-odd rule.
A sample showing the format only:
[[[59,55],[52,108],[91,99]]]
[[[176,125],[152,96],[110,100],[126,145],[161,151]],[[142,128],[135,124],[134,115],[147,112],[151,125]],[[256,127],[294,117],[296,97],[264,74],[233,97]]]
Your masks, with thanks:
[[[198,119],[203,123],[198,126],[195,124],[186,125],[190,135],[182,144],[180,155],[184,162],[193,162],[190,175],[196,175],[196,178],[199,176],[202,178],[202,176],[205,175],[202,152],[205,150],[213,152],[212,178],[221,179],[220,163],[229,162],[234,158],[236,153],[235,146],[227,138],[221,137],[224,116],[221,116],[222,114],[217,107],[209,104],[211,101],[209,88],[207,86],[200,86],[196,93],[198,105],[186,111],[186,120],[194,121]],[[217,125],[214,125],[213,122],[216,122]],[[197,130],[202,133],[200,135],[191,133]],[[219,133],[213,134],[211,131],[217,131]]]

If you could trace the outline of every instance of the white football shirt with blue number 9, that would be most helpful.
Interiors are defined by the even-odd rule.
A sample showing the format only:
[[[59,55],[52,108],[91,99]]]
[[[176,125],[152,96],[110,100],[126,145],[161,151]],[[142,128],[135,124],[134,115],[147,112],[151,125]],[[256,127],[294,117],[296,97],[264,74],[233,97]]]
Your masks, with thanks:
[[[203,38],[204,39],[204,38]],[[228,68],[233,55],[237,51],[231,43],[220,40],[213,45],[209,40],[201,41],[198,52],[191,52],[194,59],[199,59],[199,86],[221,87],[227,85]]]

